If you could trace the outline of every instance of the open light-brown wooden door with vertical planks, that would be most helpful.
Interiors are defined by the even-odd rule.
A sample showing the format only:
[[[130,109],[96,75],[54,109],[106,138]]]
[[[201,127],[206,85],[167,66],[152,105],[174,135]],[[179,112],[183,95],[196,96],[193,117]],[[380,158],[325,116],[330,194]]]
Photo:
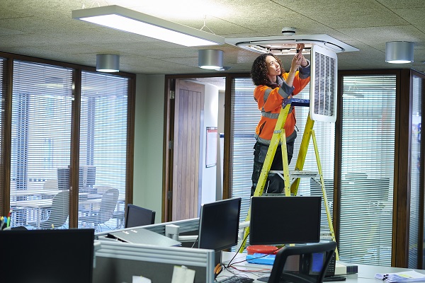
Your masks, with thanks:
[[[172,170],[172,221],[198,217],[200,206],[200,133],[205,86],[176,80]]]

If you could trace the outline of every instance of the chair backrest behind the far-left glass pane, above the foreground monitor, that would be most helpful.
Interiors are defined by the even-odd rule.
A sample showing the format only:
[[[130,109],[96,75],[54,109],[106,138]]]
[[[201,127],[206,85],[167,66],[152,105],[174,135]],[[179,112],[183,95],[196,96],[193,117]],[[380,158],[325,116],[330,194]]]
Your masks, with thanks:
[[[49,229],[65,224],[69,214],[69,190],[58,192],[52,200],[49,217],[40,224],[41,228]]]

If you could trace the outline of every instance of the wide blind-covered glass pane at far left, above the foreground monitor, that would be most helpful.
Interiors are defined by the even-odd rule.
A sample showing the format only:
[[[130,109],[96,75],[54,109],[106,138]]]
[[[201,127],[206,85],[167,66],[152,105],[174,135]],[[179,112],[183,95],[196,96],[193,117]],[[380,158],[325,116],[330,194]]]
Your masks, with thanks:
[[[11,132],[12,226],[67,227],[72,69],[14,61]]]

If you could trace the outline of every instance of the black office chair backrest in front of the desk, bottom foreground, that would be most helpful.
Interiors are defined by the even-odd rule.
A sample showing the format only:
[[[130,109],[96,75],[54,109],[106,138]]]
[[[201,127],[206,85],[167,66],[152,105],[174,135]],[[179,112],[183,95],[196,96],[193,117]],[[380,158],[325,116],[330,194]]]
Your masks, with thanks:
[[[335,253],[336,243],[312,243],[302,246],[285,246],[278,251],[269,283],[278,283],[283,279],[295,283],[322,283],[331,258]],[[285,263],[291,255],[297,257],[298,270],[284,270]],[[291,262],[292,263],[292,262]]]

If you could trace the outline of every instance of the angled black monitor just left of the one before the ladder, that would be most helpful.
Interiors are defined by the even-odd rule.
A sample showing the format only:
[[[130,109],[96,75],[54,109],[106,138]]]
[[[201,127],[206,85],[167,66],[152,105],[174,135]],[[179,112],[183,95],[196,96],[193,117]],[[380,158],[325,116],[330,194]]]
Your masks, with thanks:
[[[217,252],[237,245],[241,202],[238,197],[202,205],[198,248]]]

